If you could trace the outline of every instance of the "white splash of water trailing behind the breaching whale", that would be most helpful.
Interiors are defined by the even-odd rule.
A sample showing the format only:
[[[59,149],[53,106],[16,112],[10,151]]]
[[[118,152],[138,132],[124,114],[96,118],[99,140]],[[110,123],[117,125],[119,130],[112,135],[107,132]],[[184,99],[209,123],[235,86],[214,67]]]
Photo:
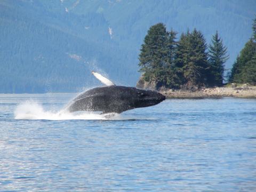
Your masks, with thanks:
[[[67,119],[116,119],[118,114],[103,115],[83,111],[81,113],[69,113],[66,110],[60,111],[45,111],[42,105],[33,101],[27,100],[18,105],[14,111],[15,119],[47,119],[47,120],[67,120]]]

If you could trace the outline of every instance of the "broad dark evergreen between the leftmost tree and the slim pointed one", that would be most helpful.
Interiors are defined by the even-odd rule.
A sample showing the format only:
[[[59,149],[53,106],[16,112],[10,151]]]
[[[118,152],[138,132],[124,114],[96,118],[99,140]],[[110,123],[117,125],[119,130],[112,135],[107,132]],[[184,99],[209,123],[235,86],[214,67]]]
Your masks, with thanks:
[[[203,34],[194,29],[192,33],[182,34],[177,49],[176,67],[182,71],[182,82],[188,89],[207,85],[209,64],[207,45]]]

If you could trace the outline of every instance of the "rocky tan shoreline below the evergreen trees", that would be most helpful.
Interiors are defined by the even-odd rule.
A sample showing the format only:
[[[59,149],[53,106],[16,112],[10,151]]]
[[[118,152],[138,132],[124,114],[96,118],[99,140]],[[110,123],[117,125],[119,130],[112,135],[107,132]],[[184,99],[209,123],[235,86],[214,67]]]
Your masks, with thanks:
[[[164,90],[159,92],[165,95],[166,99],[218,99],[223,97],[256,99],[256,86],[249,85],[204,88],[194,92],[189,90]]]

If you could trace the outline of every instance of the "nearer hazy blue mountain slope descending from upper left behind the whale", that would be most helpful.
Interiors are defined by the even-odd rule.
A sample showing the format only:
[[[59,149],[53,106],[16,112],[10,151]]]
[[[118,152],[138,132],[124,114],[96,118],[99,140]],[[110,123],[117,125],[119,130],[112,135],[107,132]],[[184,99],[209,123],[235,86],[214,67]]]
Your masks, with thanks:
[[[79,91],[99,84],[90,74],[92,70],[106,71],[113,80],[131,74],[130,66],[122,62],[129,59],[121,58],[118,45],[110,41],[108,26],[105,33],[97,30],[97,24],[93,28],[98,34],[79,33],[80,17],[81,21],[72,14],[44,14],[37,8],[27,7],[27,2],[0,4],[0,92]],[[106,23],[98,14],[86,17]],[[121,64],[117,71],[118,62]]]

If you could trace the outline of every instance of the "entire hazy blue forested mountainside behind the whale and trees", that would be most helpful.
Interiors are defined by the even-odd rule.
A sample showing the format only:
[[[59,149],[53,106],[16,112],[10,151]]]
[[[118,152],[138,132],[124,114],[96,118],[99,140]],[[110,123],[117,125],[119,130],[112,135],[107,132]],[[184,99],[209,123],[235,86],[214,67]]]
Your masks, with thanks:
[[[15,1],[0,2],[0,92],[81,91],[98,84],[97,70],[134,86],[148,28],[197,28],[210,43],[219,31],[226,68],[251,37],[255,1]],[[179,37],[180,34],[177,34]]]

